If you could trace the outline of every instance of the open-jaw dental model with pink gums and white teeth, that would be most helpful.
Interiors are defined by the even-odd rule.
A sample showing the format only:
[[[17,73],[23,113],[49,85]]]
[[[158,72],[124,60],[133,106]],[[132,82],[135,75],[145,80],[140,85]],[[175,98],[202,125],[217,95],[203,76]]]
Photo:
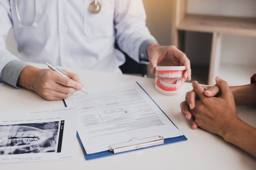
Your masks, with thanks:
[[[167,96],[178,94],[183,85],[184,70],[185,66],[157,66],[156,91]]]

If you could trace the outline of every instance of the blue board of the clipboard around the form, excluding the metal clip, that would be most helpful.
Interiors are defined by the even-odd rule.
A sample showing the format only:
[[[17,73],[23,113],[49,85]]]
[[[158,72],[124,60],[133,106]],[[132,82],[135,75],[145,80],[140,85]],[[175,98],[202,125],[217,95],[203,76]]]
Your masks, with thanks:
[[[147,94],[147,92],[141,87],[141,85],[138,82],[136,82],[136,83]],[[149,96],[149,94],[147,94],[147,95]],[[151,98],[151,97],[149,96],[149,98]],[[156,104],[156,102],[152,98],[151,98],[151,100]],[[65,100],[63,100],[63,102],[64,102],[65,107],[67,107]],[[157,107],[165,114],[165,112],[158,105],[157,105]],[[171,121],[171,119],[166,114],[165,114],[165,116]],[[174,124],[174,122],[172,122],[172,121],[171,121],[171,123]],[[178,129],[178,127],[175,124],[174,124],[174,126]],[[136,151],[136,150],[146,149],[146,148],[140,148],[140,149],[136,149],[136,150],[125,151],[125,152],[122,152],[122,153],[113,153],[110,150],[106,150],[106,151],[99,152],[99,153],[87,154],[86,151],[85,151],[85,148],[84,148],[84,146],[82,144],[82,141],[81,141],[81,139],[79,137],[78,132],[76,133],[76,137],[78,138],[78,142],[79,142],[79,144],[80,144],[80,146],[82,148],[82,152],[84,153],[86,160],[97,159],[97,158],[102,158],[102,157],[108,157],[108,156],[111,156],[111,155],[118,155],[118,154],[122,154],[122,153]],[[156,145],[156,146],[172,144],[172,143],[182,142],[182,141],[186,141],[186,140],[187,140],[187,137],[185,137],[185,135],[178,136],[178,137],[171,137],[171,138],[165,139],[164,140],[164,144],[160,144],[160,145]],[[156,147],[156,146],[150,146],[150,147],[147,147],[147,148]]]

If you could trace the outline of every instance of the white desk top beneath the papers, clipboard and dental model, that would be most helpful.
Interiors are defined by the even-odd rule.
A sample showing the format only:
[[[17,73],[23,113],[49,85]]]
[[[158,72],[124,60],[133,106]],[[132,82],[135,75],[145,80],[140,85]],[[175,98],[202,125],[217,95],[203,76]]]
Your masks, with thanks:
[[[46,68],[45,65],[33,65]],[[191,129],[180,111],[180,102],[184,100],[185,92],[191,90],[191,83],[185,83],[185,90],[179,96],[163,96],[154,89],[152,78],[69,68],[66,70],[78,74],[88,91],[93,87],[104,88],[105,85],[138,81],[188,140],[90,161],[85,160],[77,141],[76,146],[71,146],[77,150],[74,160],[7,163],[0,164],[0,170],[256,170],[256,159],[240,148],[202,129]],[[0,87],[0,115],[5,110],[42,110],[60,107],[64,107],[62,101],[47,101],[34,92],[14,89],[5,84]],[[238,107],[238,115],[256,127],[255,107]]]

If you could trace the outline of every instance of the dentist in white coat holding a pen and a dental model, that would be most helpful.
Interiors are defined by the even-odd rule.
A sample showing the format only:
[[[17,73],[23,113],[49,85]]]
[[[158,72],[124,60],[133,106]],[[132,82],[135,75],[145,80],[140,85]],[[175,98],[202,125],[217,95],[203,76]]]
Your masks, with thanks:
[[[0,0],[0,81],[25,87],[47,100],[60,100],[82,89],[78,76],[65,78],[49,69],[25,62],[51,63],[70,68],[121,73],[123,54],[156,65],[190,62],[175,46],[160,46],[145,26],[142,0]],[[13,28],[19,58],[5,46]]]

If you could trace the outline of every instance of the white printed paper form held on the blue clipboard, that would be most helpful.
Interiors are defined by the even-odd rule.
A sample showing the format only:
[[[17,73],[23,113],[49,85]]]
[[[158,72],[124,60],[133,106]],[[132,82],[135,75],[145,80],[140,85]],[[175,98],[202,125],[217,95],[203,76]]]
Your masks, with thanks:
[[[78,110],[78,134],[87,154],[109,150],[111,144],[133,137],[183,135],[136,82],[90,94],[76,92],[65,100]]]

